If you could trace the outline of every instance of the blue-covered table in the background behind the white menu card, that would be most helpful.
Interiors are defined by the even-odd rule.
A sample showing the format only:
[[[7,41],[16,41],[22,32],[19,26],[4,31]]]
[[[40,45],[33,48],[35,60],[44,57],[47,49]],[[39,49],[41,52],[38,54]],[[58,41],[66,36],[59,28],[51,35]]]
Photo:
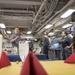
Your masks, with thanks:
[[[46,55],[45,54],[35,54],[37,56],[37,58],[39,60],[46,60]],[[15,55],[15,54],[7,54],[9,60],[11,62],[15,62],[15,61],[21,61],[20,56],[19,55]]]

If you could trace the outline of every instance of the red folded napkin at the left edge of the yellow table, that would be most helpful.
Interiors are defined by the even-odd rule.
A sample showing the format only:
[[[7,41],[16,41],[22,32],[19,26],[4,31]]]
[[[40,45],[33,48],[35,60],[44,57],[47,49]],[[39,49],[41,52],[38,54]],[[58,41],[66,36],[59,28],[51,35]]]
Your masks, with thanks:
[[[4,52],[2,52],[1,58],[0,58],[0,68],[8,66],[10,64],[11,63],[9,61],[9,58],[6,56],[6,54]]]

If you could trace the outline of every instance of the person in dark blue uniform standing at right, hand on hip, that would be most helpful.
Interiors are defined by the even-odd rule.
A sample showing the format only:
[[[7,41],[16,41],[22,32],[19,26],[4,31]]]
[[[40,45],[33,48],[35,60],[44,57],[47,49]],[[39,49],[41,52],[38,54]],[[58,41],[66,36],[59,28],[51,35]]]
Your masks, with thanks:
[[[67,48],[67,46],[70,46],[71,44],[71,38],[67,36],[67,32],[62,32],[62,40],[61,40],[61,46],[62,46],[62,57],[63,60],[65,60],[69,54],[71,53],[71,49]]]

